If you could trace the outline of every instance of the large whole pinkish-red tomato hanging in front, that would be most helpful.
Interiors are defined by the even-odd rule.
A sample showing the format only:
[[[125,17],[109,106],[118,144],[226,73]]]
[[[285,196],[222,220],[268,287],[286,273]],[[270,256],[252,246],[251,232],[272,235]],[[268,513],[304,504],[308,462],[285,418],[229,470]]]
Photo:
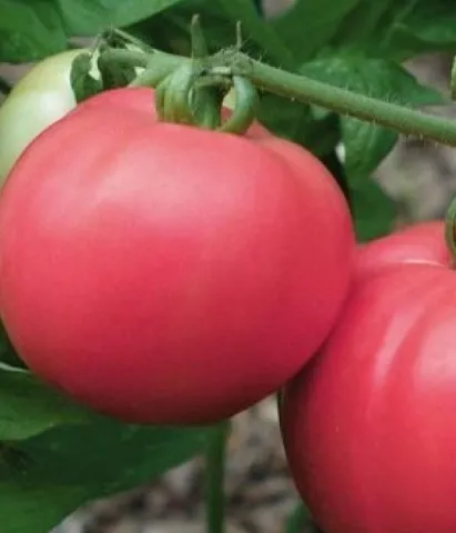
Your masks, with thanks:
[[[345,200],[307,151],[156,123],[151,91],[120,89],[48,128],[10,173],[1,316],[33,372],[97,411],[213,422],[312,356],[354,250]]]

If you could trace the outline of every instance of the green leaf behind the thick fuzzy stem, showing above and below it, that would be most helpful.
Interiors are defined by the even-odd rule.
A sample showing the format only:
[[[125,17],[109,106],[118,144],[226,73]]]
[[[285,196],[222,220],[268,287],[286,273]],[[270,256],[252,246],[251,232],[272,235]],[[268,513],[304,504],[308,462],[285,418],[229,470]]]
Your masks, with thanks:
[[[411,108],[446,101],[439,92],[419,84],[395,62],[347,51],[305,63],[301,72],[359,94]],[[393,130],[351,117],[341,118],[341,128],[351,182],[366,179],[389,153],[398,137]]]

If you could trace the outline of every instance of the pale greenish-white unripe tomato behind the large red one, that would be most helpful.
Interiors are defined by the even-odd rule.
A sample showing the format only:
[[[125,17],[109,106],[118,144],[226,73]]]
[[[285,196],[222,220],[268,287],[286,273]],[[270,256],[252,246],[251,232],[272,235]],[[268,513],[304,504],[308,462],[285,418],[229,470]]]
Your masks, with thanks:
[[[0,183],[26,147],[75,107],[70,71],[81,51],[67,50],[40,61],[4,100],[0,108]]]

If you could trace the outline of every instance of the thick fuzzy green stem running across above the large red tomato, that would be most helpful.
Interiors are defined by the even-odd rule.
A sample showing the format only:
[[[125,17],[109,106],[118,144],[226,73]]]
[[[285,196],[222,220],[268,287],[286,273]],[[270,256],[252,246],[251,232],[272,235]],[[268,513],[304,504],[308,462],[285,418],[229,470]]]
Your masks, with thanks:
[[[169,76],[174,69],[190,61],[190,58],[154,50],[149,60],[146,54],[129,50],[108,50],[114,60],[133,61],[146,66],[145,71],[131,84],[154,87],[158,79]],[[348,89],[317,81],[303,74],[291,73],[251,59],[236,47],[202,58],[205,74],[213,79],[232,79],[240,76],[255,87],[303,103],[312,103],[340,114],[354,117],[389,128],[406,135],[432,139],[456,147],[456,123],[404,105],[366,97]]]

